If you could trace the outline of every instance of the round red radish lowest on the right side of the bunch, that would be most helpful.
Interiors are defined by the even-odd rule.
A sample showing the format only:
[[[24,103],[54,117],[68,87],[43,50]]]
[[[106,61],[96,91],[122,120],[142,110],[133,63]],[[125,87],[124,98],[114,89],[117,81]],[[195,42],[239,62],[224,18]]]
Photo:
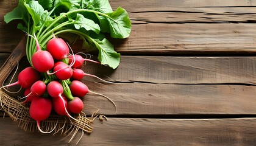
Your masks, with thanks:
[[[84,109],[84,103],[79,97],[74,97],[73,100],[68,102],[68,109],[71,113],[79,114]]]

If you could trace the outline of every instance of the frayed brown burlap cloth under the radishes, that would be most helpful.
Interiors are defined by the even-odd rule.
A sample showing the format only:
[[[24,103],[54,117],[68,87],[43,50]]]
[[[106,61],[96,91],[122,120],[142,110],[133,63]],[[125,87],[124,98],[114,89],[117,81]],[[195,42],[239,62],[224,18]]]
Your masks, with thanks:
[[[23,128],[24,131],[38,131],[37,122],[29,116],[29,106],[10,97],[1,89],[0,110],[7,113],[13,121],[18,122],[18,126]],[[72,133],[73,135],[71,135],[69,142],[73,140],[78,131],[82,131],[81,139],[84,133],[91,133],[93,131],[93,127],[91,127],[90,123],[96,118],[95,115],[96,114],[93,114],[93,116],[88,118],[83,113],[77,115],[75,117],[76,120],[73,120],[67,116],[59,116],[52,113],[48,119],[41,122],[41,130],[51,131],[54,129],[52,132],[53,135],[58,133],[69,136]],[[77,141],[77,143],[79,141]]]

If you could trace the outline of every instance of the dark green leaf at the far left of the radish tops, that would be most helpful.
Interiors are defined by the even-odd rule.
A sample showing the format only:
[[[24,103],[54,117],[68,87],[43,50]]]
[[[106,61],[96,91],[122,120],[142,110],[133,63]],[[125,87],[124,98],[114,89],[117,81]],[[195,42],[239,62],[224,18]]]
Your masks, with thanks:
[[[23,19],[23,21],[27,22],[28,12],[26,7],[24,6],[23,0],[19,1],[18,6],[15,7],[15,9],[4,15],[5,23],[10,23],[10,21],[14,19]]]

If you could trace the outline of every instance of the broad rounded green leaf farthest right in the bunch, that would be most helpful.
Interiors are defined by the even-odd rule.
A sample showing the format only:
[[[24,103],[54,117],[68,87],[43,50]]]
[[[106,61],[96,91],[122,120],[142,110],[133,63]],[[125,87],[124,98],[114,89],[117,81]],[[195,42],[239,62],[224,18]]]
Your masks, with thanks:
[[[102,31],[110,33],[112,38],[127,38],[130,35],[132,24],[126,10],[118,7],[115,12],[106,14],[108,17],[99,16]]]

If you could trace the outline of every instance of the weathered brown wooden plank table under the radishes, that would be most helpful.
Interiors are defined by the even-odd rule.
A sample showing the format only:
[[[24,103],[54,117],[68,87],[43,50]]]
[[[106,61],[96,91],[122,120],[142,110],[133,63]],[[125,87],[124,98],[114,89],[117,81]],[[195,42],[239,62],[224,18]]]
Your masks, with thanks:
[[[16,4],[0,2],[0,64],[24,34],[3,21]],[[122,54],[115,71],[88,66],[118,83],[88,86],[110,97],[118,111],[102,97],[86,96],[85,112],[100,109],[108,120],[94,120],[93,133],[79,145],[256,144],[256,1],[110,4],[127,10],[132,33],[112,40]],[[79,139],[68,144],[63,136],[25,132],[8,116],[0,127],[1,145],[75,145]]]

